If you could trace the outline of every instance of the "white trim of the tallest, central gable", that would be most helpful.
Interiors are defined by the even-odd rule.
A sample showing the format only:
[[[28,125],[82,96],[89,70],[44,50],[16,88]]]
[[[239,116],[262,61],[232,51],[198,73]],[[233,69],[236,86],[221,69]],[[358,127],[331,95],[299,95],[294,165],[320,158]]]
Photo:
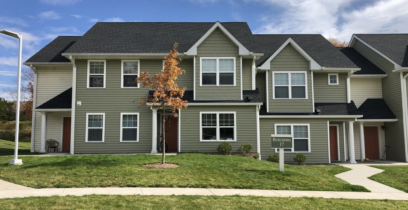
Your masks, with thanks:
[[[250,52],[244,45],[241,44],[241,42],[238,41],[222,24],[217,21],[208,31],[200,38],[198,41],[190,48],[187,50],[185,55],[197,55],[197,47],[204,42],[204,40],[211,34],[216,28],[220,28],[222,32],[224,32],[228,38],[231,39],[238,47],[239,47],[239,55],[251,55],[252,52]]]

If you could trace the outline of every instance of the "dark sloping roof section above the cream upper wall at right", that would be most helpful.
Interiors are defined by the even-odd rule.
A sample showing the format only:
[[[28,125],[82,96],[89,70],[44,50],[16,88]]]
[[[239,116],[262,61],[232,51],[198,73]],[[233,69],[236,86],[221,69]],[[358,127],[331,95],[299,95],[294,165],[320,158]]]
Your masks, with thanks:
[[[354,48],[338,47],[337,49],[346,55],[356,66],[361,68],[361,70],[354,72],[353,74],[385,74],[383,70],[378,68],[378,66],[375,66],[374,63],[371,63]]]

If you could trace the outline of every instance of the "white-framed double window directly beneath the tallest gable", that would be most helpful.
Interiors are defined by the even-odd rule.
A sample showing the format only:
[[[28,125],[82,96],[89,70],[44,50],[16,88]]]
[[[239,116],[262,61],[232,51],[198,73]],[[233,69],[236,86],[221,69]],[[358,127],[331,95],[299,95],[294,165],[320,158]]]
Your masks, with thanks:
[[[201,57],[201,86],[235,86],[235,57]]]

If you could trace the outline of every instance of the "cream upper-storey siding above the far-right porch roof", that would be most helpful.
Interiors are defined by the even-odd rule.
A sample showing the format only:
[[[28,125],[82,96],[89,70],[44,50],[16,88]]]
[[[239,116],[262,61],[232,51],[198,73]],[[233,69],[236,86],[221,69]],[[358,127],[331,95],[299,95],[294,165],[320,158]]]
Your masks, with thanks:
[[[355,105],[360,107],[367,98],[382,98],[381,79],[350,78],[350,96]]]

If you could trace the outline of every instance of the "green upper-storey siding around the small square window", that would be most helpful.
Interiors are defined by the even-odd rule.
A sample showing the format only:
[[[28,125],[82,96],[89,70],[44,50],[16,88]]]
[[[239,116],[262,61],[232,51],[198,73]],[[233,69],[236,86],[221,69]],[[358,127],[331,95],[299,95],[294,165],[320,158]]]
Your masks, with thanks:
[[[313,73],[315,102],[347,102],[347,74],[339,73],[339,84],[328,84],[328,73]]]

